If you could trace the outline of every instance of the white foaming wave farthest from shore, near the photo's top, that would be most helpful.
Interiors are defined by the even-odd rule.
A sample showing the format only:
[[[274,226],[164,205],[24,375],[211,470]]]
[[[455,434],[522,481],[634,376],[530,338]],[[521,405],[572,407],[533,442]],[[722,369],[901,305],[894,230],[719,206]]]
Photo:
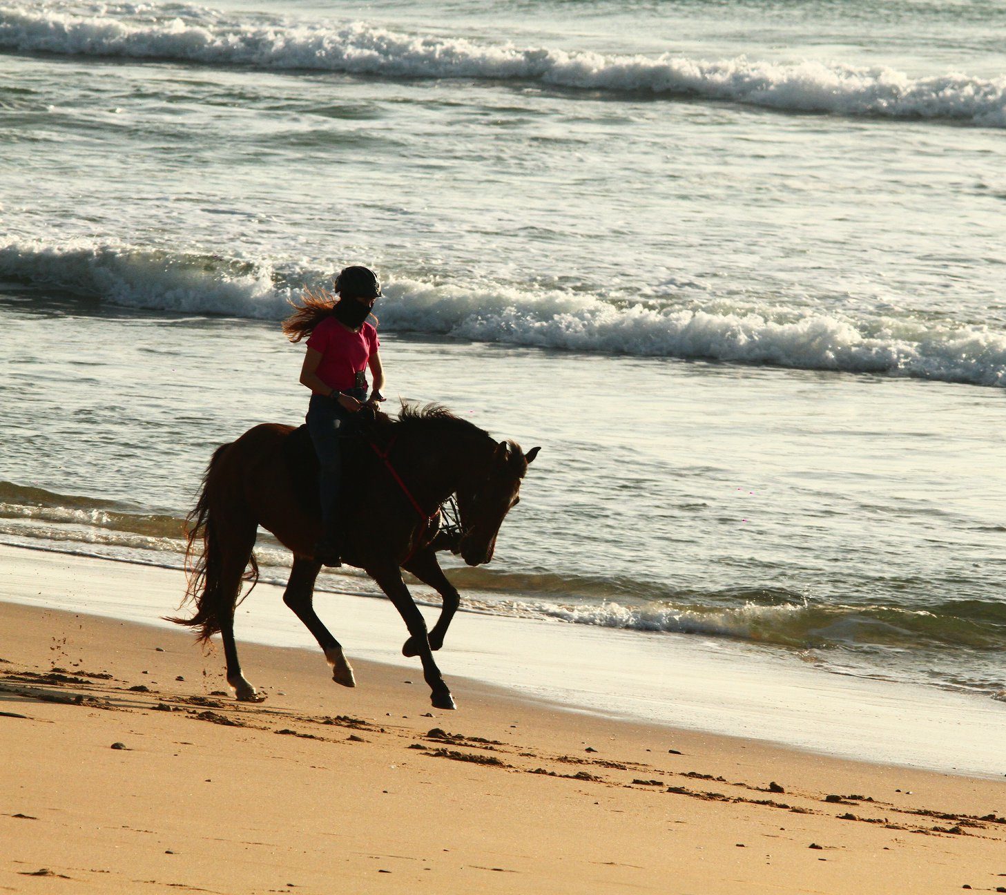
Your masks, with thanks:
[[[781,111],[1006,127],[1006,77],[983,80],[951,72],[909,78],[888,67],[840,62],[771,62],[745,56],[706,60],[495,45],[406,34],[366,22],[227,18],[185,4],[158,10],[115,3],[42,8],[35,3],[7,3],[0,5],[0,49],[391,79],[531,81],[568,89],[697,97]]]

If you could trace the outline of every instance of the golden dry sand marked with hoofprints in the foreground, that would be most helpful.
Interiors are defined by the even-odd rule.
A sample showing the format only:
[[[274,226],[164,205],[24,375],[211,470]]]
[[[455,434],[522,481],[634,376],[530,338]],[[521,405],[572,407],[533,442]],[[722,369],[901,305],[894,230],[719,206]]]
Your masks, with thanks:
[[[0,630],[3,891],[1006,891],[1006,779],[457,679],[441,712],[417,668],[349,692],[314,650],[243,645],[271,693],[243,705],[182,631],[14,603]]]

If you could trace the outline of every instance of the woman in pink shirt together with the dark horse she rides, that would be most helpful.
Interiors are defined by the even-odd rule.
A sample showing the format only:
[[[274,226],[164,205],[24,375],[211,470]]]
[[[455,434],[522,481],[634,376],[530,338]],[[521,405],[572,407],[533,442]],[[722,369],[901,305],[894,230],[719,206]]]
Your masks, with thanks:
[[[284,324],[294,341],[311,335],[301,382],[313,393],[308,426],[322,476],[332,456],[326,451],[342,454],[337,435],[357,420],[354,414],[365,397],[366,365],[374,376],[368,403],[382,400],[384,382],[376,331],[373,327],[368,331],[364,322],[380,294],[376,277],[365,268],[347,268],[336,289],[337,304],[328,295],[309,293]],[[329,337],[323,338],[326,329]],[[340,377],[347,370],[353,380],[343,388],[346,380]],[[363,391],[354,394],[353,389]],[[331,473],[338,481],[338,467],[329,470],[328,479],[322,477],[319,506],[312,447],[293,426],[264,423],[214,451],[186,530],[186,598],[195,613],[170,620],[194,628],[203,642],[219,632],[227,683],[237,699],[265,699],[241,673],[234,639],[241,584],[250,581],[254,586],[259,577],[254,549],[261,527],[294,555],[283,600],[324,650],[333,681],[344,687],[356,685],[342,645],[315,613],[313,595],[322,561],[344,559],[363,569],[401,614],[408,629],[401,651],[423,662],[433,705],[455,707],[433,653],[444,644],[460,598],[437,561],[437,551],[450,549],[469,566],[492,560],[500,526],[517,503],[521,480],[538,448],[525,454],[516,442],[496,441],[437,406],[403,406],[397,419],[382,419],[380,444],[370,440],[367,449],[363,441],[352,458],[352,477],[338,507],[327,502],[334,490]],[[448,537],[439,534],[438,517],[441,505],[452,495],[457,498],[460,533]],[[328,513],[324,524],[319,510]],[[345,521],[345,537],[341,545],[331,541],[326,545],[336,511]],[[341,557],[339,551],[326,555],[326,547],[340,547]],[[443,597],[440,618],[432,629],[428,630],[402,581],[402,569]]]

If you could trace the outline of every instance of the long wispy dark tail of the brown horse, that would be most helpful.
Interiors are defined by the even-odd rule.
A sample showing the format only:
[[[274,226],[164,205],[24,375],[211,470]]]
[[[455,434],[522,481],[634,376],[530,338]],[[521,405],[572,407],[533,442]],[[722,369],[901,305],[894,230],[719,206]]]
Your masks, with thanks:
[[[196,628],[200,642],[206,642],[217,633],[221,616],[232,615],[234,606],[243,599],[238,599],[239,586],[237,589],[227,587],[222,580],[223,548],[218,531],[219,520],[210,509],[210,491],[217,484],[220,460],[229,447],[229,444],[223,444],[213,452],[202,478],[199,499],[185,517],[185,576],[188,583],[181,605],[190,601],[195,603],[196,613],[191,618],[165,618],[166,621]],[[246,597],[259,583],[259,563],[254,553],[248,556],[241,578],[252,582],[252,587],[244,594]]]

